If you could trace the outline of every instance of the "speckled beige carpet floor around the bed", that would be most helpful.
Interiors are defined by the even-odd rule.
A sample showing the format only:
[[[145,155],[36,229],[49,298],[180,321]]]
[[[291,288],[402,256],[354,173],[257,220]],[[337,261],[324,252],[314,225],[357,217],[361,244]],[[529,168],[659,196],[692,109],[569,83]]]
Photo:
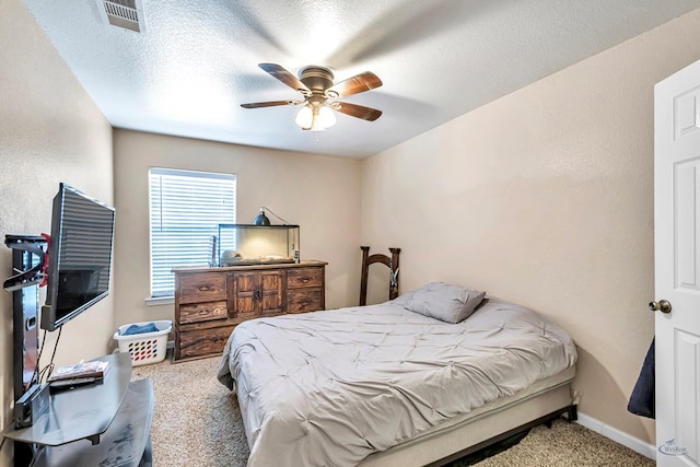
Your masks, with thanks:
[[[235,396],[215,377],[219,358],[137,366],[133,380],[150,377],[155,393],[151,428],[155,467],[243,467],[248,445]],[[520,443],[477,464],[451,467],[630,466],[655,465],[578,423],[556,421],[534,428]]]

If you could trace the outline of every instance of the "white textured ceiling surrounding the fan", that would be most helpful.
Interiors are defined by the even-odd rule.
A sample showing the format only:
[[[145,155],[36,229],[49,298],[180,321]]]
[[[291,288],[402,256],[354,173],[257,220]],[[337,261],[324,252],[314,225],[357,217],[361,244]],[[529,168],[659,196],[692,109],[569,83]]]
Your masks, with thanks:
[[[113,126],[365,157],[693,9],[700,0],[142,0],[144,33],[103,22],[94,0],[25,0]],[[299,98],[258,68],[373,71],[324,132],[294,124]]]

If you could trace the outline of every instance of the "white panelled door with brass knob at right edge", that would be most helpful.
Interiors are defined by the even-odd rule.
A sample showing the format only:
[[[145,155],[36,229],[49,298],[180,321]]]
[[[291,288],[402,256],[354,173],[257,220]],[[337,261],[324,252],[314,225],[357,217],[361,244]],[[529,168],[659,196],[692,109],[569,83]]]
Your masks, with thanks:
[[[700,465],[700,61],[654,98],[658,466]]]

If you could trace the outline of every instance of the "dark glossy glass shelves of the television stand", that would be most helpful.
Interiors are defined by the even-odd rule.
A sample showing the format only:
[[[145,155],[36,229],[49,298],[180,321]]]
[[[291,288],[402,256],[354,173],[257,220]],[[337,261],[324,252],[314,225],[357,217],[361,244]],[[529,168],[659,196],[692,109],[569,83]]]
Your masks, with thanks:
[[[151,380],[131,382],[127,352],[96,360],[109,361],[102,382],[51,393],[48,410],[31,427],[5,430],[15,442],[15,467],[152,465]]]

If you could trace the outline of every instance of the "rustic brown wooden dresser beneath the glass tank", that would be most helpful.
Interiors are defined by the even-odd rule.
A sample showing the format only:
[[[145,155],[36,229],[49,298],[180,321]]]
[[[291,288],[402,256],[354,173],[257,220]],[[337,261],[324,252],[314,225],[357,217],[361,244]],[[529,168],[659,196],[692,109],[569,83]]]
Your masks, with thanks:
[[[324,261],[175,268],[174,360],[219,354],[246,319],[326,307]]]

